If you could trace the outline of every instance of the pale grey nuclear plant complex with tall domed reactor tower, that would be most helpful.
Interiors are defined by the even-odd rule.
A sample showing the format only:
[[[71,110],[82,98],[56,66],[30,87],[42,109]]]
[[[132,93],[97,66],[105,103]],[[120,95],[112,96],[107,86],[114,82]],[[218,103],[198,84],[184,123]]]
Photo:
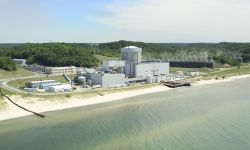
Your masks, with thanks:
[[[166,81],[168,74],[169,62],[143,62],[142,49],[128,46],[121,48],[121,60],[104,61],[98,72],[82,75],[93,86],[117,87],[133,82]]]

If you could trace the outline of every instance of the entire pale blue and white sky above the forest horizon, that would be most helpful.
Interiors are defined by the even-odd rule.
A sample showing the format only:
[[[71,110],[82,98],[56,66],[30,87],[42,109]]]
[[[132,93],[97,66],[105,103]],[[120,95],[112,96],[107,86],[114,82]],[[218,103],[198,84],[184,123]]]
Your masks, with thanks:
[[[0,0],[0,43],[250,42],[249,0]]]

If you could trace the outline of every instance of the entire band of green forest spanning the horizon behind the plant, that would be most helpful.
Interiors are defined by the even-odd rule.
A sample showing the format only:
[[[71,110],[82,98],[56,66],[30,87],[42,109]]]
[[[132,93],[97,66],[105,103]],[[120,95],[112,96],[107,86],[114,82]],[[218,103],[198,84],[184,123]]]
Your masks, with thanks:
[[[211,61],[235,65],[233,58],[250,62],[250,43],[144,43],[117,41],[100,43],[0,44],[0,56],[27,59],[28,64],[45,66],[97,67],[96,55],[120,57],[120,48],[129,45],[143,49],[144,60]],[[7,60],[6,60],[7,61]]]

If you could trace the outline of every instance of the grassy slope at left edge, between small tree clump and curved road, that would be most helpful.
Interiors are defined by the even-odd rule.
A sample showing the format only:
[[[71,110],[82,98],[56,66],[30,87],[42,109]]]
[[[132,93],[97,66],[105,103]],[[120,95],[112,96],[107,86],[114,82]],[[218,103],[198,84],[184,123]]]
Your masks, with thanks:
[[[34,75],[31,71],[25,70],[21,67],[17,68],[17,71],[5,71],[0,69],[0,79],[25,77]]]

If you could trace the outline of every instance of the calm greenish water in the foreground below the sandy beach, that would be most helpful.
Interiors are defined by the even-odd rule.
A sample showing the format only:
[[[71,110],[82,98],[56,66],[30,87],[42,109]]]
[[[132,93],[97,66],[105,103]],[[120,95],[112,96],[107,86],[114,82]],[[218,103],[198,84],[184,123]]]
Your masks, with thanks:
[[[250,79],[0,122],[0,150],[249,150]]]

